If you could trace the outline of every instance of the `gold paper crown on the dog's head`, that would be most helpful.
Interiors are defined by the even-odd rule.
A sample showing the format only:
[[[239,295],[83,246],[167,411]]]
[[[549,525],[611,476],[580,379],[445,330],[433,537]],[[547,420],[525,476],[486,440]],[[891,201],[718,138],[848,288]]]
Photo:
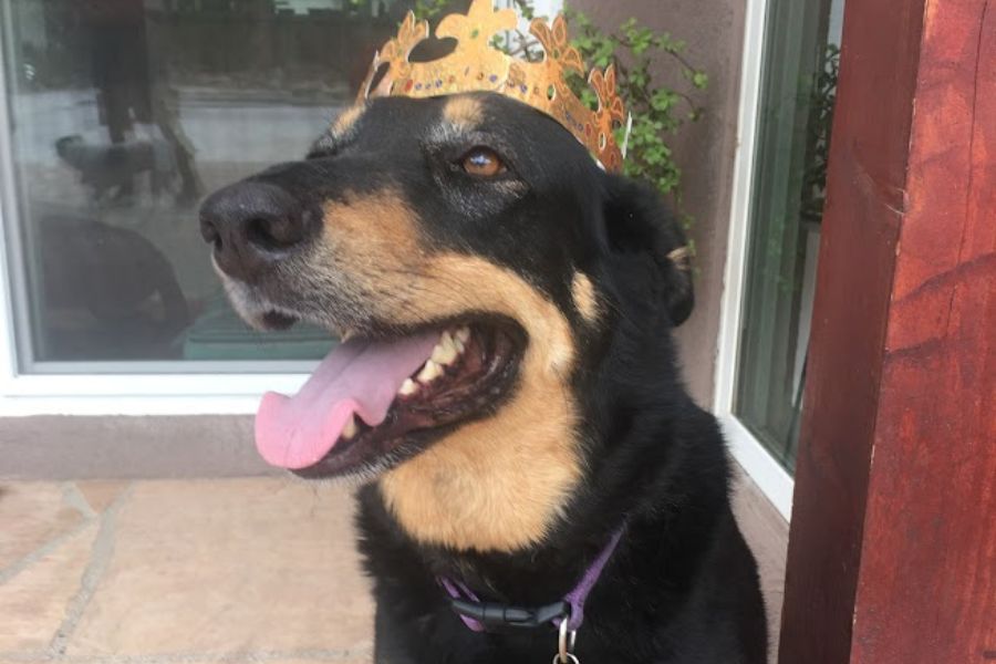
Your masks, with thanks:
[[[491,0],[474,0],[466,14],[449,14],[436,27],[436,38],[453,38],[456,49],[430,62],[409,62],[412,51],[429,37],[427,21],[411,11],[397,37],[374,55],[359,101],[380,96],[430,97],[460,92],[497,92],[525,102],[563,125],[606,170],[622,169],[623,153],[614,131],[625,120],[625,106],[615,89],[615,69],[595,68],[588,83],[598,97],[590,108],[568,84],[570,73],[584,74],[581,54],[568,41],[567,21],[552,24],[535,19],[529,32],[542,45],[543,58],[531,62],[508,55],[492,39],[513,30],[518,17],[511,9],[496,11]],[[386,68],[385,68],[386,65]]]

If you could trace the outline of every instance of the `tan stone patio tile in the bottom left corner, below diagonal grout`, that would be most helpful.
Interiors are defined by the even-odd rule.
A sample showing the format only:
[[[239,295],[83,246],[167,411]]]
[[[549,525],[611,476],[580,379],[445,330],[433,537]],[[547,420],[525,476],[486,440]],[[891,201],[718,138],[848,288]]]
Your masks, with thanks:
[[[0,584],[0,653],[48,647],[80,591],[96,532],[95,521],[83,526]]]

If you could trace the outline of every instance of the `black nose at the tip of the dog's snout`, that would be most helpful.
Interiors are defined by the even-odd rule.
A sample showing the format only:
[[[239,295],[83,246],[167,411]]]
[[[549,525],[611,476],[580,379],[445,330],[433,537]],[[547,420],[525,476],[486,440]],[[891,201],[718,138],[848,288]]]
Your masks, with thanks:
[[[251,282],[307,243],[313,217],[284,189],[247,180],[204,201],[200,235],[226,274]]]

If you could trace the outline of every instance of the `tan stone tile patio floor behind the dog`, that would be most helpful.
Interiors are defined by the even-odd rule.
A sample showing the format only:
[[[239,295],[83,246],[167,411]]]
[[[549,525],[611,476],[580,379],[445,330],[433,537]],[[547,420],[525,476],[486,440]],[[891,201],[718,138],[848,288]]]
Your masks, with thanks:
[[[778,605],[785,523],[739,484]],[[0,664],[370,662],[352,511],[289,478],[0,483]]]

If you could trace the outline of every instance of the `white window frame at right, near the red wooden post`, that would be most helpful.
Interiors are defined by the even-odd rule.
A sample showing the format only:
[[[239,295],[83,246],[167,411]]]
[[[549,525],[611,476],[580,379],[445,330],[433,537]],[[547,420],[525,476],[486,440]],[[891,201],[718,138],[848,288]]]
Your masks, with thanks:
[[[733,196],[726,269],[720,301],[718,353],[716,357],[713,409],[723,427],[734,458],[768,497],[775,508],[791,518],[795,480],[775,457],[734,414],[740,323],[750,237],[750,201],[754,190],[754,158],[761,92],[767,0],[747,0],[744,31],[744,58],[740,71],[740,104],[737,118],[737,149],[734,163]]]

